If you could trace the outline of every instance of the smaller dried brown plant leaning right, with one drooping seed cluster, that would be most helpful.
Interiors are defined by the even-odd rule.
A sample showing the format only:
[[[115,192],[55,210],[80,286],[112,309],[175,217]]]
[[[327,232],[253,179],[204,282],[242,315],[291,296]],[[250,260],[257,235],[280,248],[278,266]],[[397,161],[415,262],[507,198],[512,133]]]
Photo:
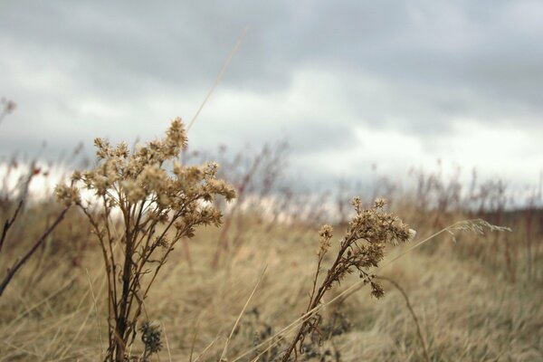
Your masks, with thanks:
[[[375,275],[370,271],[377,268],[379,262],[385,257],[386,243],[405,243],[413,235],[413,231],[394,214],[384,211],[385,200],[377,199],[375,205],[364,209],[359,198],[355,197],[352,204],[357,214],[348,224],[348,230],[339,244],[338,255],[330,266],[319,289],[317,284],[324,256],[329,252],[333,230],[330,225],[320,229],[320,246],[317,262],[317,271],[313,279],[313,288],[310,293],[310,302],[300,329],[292,338],[291,344],[285,350],[282,361],[287,362],[294,352],[294,359],[298,352],[303,354],[303,341],[306,335],[319,332],[320,315],[318,307],[327,291],[338,284],[348,273],[358,271],[365,284],[371,285],[371,294],[381,298],[385,291],[381,284],[375,281]]]

